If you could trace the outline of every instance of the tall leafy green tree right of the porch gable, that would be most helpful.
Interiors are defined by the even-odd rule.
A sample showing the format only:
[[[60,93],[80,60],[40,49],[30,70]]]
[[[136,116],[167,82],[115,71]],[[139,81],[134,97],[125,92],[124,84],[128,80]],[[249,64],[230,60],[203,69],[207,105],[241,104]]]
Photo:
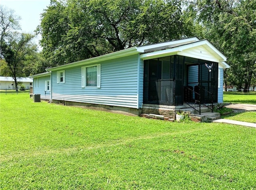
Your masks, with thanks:
[[[206,38],[228,56],[231,67],[226,76],[247,92],[256,72],[256,0],[195,0],[191,7]]]

